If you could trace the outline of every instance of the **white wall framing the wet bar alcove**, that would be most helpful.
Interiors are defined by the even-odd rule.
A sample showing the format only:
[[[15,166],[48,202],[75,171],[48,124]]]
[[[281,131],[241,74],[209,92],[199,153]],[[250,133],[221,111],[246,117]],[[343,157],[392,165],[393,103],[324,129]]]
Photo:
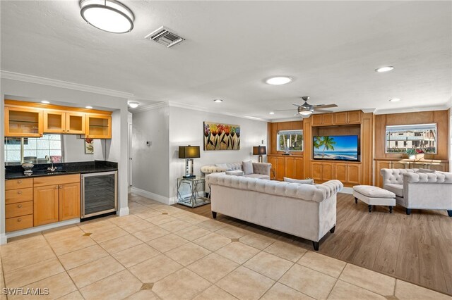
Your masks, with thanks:
[[[4,120],[4,99],[7,96],[20,96],[35,99],[46,99],[50,102],[65,102],[68,106],[94,106],[95,108],[112,108],[112,139],[106,142],[107,159],[118,163],[118,206],[120,215],[128,214],[127,205],[127,99],[76,89],[52,87],[18,80],[1,79],[1,123]],[[4,138],[4,130],[0,130],[0,138]],[[4,165],[4,146],[0,146],[0,163]],[[0,242],[4,239],[4,168],[0,171]]]

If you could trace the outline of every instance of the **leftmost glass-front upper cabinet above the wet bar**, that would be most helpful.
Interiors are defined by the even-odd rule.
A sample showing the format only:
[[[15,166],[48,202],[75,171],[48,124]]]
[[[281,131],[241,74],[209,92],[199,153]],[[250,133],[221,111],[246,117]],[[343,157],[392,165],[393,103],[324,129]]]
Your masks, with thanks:
[[[42,109],[5,107],[5,137],[42,137]]]

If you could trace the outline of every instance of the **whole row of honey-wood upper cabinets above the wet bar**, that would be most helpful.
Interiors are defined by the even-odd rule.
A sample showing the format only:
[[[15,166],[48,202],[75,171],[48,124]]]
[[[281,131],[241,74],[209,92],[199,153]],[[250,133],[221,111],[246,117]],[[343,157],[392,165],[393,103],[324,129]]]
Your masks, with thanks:
[[[42,137],[44,133],[112,138],[112,113],[93,109],[5,100],[6,137]]]

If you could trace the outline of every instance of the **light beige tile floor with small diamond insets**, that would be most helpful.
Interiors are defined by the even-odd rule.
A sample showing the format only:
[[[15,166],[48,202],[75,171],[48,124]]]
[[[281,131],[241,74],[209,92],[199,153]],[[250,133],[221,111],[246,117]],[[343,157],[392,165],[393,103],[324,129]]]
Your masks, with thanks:
[[[129,208],[121,218],[1,246],[0,300],[452,299],[309,251],[287,236],[268,237],[134,194]],[[49,294],[6,296],[4,287]]]

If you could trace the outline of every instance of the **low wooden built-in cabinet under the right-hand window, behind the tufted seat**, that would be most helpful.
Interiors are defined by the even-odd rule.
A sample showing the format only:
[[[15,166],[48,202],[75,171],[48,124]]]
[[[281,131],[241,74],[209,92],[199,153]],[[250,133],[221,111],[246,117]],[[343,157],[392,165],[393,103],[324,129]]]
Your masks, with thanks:
[[[391,161],[388,159],[375,160],[374,185],[383,187],[383,178],[381,177],[381,169],[429,169],[441,172],[448,172],[449,164],[447,161],[412,161],[409,159]]]

